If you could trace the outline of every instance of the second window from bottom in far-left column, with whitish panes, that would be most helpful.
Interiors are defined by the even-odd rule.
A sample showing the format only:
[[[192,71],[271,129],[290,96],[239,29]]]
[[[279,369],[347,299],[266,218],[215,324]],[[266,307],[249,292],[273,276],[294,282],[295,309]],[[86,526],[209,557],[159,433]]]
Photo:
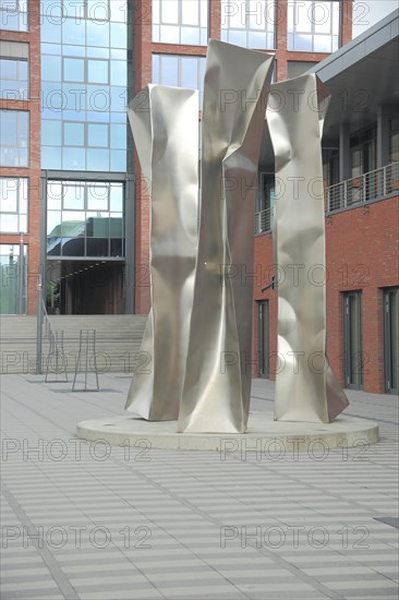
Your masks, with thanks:
[[[27,232],[27,179],[0,177],[0,231]]]

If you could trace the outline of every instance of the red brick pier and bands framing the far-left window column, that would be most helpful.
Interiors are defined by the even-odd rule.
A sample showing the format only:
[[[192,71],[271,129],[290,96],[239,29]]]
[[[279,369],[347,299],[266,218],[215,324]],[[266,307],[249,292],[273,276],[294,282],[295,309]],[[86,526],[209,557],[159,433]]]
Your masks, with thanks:
[[[29,100],[2,100],[1,109],[28,110],[31,127],[29,166],[3,167],[3,177],[29,178],[28,233],[24,242],[28,247],[27,313],[36,314],[36,287],[40,250],[40,21],[39,0],[29,0],[28,32],[1,31],[0,38],[29,44]],[[20,235],[2,235],[0,243],[20,243]]]

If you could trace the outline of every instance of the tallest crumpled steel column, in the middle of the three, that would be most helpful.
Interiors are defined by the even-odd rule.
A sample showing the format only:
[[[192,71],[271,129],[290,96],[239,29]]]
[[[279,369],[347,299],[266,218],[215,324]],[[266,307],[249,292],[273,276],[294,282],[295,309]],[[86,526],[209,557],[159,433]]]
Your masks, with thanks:
[[[208,46],[198,254],[179,432],[244,432],[251,395],[253,216],[273,56]]]

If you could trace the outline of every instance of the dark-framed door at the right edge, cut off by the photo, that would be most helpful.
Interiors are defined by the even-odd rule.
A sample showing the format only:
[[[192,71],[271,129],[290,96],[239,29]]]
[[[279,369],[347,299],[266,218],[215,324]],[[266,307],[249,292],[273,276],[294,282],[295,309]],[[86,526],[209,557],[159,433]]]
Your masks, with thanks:
[[[384,292],[385,389],[399,393],[399,288]]]

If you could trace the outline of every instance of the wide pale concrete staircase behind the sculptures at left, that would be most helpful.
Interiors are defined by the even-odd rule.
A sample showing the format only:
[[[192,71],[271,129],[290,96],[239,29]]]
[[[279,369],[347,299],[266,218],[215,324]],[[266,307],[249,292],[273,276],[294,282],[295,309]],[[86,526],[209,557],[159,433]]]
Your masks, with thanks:
[[[74,372],[78,355],[80,329],[96,331],[97,369],[101,372],[131,373],[145,365],[149,357],[140,352],[147,315],[58,315],[49,316],[53,332],[63,331],[63,356],[66,371]],[[1,373],[36,372],[36,316],[0,316]],[[46,324],[43,326],[43,369],[49,353]],[[89,368],[94,367],[93,350],[88,348]],[[83,347],[82,362],[85,362]],[[55,358],[51,363],[55,368]],[[61,368],[61,367],[60,367]]]

